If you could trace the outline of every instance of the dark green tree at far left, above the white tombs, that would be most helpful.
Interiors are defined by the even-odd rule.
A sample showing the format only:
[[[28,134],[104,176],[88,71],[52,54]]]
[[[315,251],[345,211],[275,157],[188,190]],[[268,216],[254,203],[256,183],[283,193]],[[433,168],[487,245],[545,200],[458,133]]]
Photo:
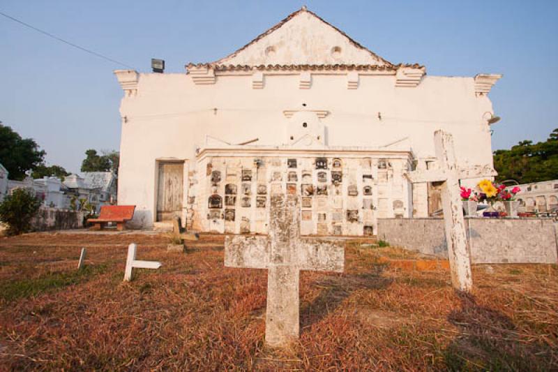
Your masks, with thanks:
[[[24,179],[25,172],[43,163],[45,154],[35,140],[22,138],[9,126],[0,124],[0,163],[10,179]]]

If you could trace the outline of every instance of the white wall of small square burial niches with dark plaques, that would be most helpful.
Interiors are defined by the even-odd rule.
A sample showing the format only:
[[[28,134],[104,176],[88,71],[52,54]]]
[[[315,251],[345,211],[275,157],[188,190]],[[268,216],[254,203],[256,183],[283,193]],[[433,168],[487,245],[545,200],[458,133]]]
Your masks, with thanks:
[[[406,152],[349,157],[342,151],[242,151],[223,156],[202,150],[188,204],[195,229],[266,234],[274,194],[301,197],[303,235],[373,235],[377,216],[411,215]]]

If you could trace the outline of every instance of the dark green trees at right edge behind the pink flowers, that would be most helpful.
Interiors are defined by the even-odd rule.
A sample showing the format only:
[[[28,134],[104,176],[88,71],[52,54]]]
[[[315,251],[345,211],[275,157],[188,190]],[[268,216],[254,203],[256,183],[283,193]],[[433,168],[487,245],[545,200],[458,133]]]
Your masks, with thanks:
[[[558,128],[545,142],[521,141],[509,150],[494,151],[497,181],[520,184],[558,179]]]

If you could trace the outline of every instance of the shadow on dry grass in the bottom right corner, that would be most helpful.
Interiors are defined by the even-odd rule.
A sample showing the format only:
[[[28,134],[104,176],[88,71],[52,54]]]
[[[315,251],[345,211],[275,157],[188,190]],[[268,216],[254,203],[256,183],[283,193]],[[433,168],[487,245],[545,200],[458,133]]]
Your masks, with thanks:
[[[513,321],[492,308],[479,306],[472,295],[458,293],[460,310],[448,321],[461,334],[442,352],[450,371],[550,371],[548,345],[520,340]]]

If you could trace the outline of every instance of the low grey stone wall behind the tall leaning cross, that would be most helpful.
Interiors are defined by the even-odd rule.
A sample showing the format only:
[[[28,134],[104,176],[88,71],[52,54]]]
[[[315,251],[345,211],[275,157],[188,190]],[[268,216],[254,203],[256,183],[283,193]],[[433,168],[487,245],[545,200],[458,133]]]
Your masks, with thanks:
[[[442,218],[379,218],[378,237],[448,257]],[[550,218],[465,218],[473,263],[558,263],[557,224]]]

